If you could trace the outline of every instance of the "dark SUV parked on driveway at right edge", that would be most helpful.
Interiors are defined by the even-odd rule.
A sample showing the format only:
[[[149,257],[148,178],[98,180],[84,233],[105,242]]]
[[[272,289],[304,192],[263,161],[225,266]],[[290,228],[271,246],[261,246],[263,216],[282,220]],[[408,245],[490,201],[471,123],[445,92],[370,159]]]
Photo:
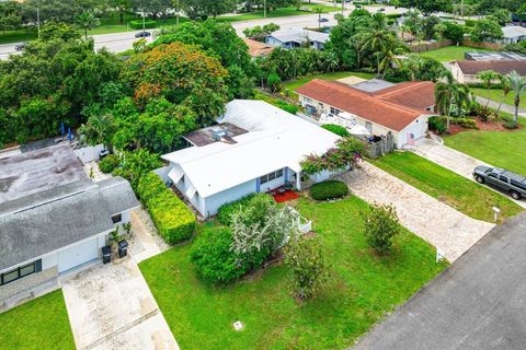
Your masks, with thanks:
[[[488,184],[504,190],[513,199],[526,197],[526,177],[503,168],[479,165],[473,170],[473,177],[479,184]]]

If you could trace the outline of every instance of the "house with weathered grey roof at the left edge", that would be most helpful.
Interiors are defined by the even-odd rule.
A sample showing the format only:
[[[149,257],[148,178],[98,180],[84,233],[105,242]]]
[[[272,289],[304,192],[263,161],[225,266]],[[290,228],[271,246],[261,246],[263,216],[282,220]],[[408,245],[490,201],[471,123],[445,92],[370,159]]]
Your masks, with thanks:
[[[69,144],[0,160],[0,307],[100,259],[139,203],[121,177],[93,183]]]

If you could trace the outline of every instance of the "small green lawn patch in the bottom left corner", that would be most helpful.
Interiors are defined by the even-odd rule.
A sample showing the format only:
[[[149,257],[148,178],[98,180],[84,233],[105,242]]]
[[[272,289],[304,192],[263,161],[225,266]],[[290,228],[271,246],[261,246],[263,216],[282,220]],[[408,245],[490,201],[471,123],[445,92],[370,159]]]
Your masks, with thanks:
[[[75,349],[62,291],[55,291],[0,314],[0,348]]]

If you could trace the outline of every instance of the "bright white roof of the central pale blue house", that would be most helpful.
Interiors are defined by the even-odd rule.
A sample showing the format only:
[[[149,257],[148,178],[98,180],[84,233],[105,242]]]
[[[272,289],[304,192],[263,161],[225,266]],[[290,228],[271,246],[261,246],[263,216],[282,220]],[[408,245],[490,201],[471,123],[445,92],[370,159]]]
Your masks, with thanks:
[[[201,197],[209,197],[262,175],[289,167],[299,172],[308,154],[322,154],[339,137],[263,101],[235,100],[219,122],[249,132],[233,137],[237,143],[214,142],[163,155],[186,175]]]

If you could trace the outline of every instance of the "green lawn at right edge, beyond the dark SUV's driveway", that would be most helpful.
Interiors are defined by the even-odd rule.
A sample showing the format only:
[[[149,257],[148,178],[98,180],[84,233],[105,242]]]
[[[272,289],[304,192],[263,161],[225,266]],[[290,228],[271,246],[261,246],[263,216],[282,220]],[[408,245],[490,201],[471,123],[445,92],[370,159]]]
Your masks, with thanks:
[[[515,131],[462,131],[444,138],[446,145],[494,166],[526,175],[526,120]]]

